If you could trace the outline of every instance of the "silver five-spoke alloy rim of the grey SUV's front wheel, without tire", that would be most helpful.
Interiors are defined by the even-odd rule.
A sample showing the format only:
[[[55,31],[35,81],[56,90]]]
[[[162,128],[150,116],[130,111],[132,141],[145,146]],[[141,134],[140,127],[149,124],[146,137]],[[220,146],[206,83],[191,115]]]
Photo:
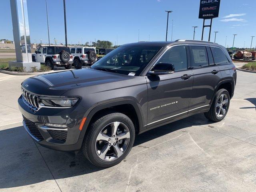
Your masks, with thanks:
[[[130,131],[122,122],[112,122],[106,125],[98,134],[95,151],[104,161],[116,160],[122,156],[130,142]]]

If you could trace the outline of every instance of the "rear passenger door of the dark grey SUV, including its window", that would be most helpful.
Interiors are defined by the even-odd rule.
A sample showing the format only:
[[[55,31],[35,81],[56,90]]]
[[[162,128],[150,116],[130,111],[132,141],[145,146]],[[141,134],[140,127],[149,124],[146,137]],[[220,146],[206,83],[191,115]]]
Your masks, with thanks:
[[[209,108],[214,90],[222,79],[209,46],[190,45],[194,82],[188,113]]]

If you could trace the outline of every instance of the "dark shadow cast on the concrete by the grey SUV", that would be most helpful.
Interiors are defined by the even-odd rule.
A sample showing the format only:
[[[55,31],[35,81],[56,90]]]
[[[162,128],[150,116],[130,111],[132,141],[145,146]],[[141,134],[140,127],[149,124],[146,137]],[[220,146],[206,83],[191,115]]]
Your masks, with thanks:
[[[209,123],[211,122],[204,118],[203,114],[190,116],[184,120],[137,135],[133,147],[176,130],[182,130],[192,125]],[[12,137],[12,135],[15,137]],[[4,138],[0,141],[0,154],[2,154],[0,155],[2,177],[0,178],[0,188],[26,186],[47,180],[71,178],[86,174],[88,174],[86,175],[87,179],[94,180],[106,174],[104,169],[95,167],[86,160],[81,151],[76,156],[71,156],[66,152],[51,150],[35,144],[23,126],[0,131],[0,138]],[[26,148],[11,152],[11,148],[8,149],[9,145],[12,146],[12,150],[17,146],[25,146]],[[10,153],[6,152],[6,150],[10,150]],[[126,163],[129,163],[129,161],[126,160]],[[112,168],[112,170],[114,169]],[[100,173],[97,174],[96,172]]]

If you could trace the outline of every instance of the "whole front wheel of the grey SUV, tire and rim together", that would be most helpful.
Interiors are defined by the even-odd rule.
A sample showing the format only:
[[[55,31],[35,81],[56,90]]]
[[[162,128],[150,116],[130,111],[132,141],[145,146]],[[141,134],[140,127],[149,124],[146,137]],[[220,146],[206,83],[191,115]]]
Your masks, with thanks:
[[[118,140],[118,135],[124,135],[124,133],[127,138]],[[102,135],[104,135],[101,137],[103,140],[98,139]],[[134,138],[135,128],[132,120],[125,114],[109,112],[95,118],[90,124],[82,144],[82,152],[95,166],[111,167],[120,163],[129,154],[134,144]]]

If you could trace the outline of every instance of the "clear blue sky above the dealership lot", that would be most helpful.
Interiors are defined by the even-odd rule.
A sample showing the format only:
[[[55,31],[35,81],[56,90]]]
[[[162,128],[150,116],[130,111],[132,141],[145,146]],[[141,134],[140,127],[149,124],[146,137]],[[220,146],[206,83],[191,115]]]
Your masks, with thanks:
[[[97,2],[97,3],[96,3]],[[31,42],[48,42],[45,0],[27,0]],[[164,10],[172,10],[169,17],[168,40],[171,40],[172,19],[174,20],[173,40],[201,40],[203,20],[198,19],[200,0],[66,0],[68,43],[110,40],[115,44],[138,41],[165,40],[166,17]],[[250,47],[251,37],[256,36],[255,0],[221,0],[219,18],[212,23],[211,41],[214,31],[219,31],[216,42],[232,46],[232,34],[238,34],[235,46]],[[48,0],[50,41],[65,42],[63,0]],[[13,39],[10,1],[1,1],[0,38]],[[205,30],[204,40],[207,40]],[[256,38],[252,46],[255,47]]]

